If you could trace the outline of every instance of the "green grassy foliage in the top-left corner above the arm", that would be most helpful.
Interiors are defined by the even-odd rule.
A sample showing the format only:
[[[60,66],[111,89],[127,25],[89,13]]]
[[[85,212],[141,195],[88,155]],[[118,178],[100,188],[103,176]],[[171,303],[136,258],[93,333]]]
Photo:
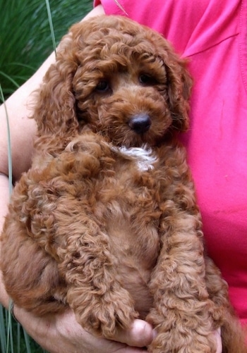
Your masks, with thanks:
[[[56,44],[72,23],[92,8],[92,0],[49,0]],[[0,0],[0,84],[5,99],[52,52],[45,0]]]

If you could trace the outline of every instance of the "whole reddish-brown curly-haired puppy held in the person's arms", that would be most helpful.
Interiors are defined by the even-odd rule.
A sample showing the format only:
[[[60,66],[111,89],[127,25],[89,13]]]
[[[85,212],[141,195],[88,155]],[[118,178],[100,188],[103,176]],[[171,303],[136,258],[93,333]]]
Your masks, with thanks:
[[[8,294],[38,315],[69,305],[113,337],[143,318],[149,352],[243,353],[227,285],[205,256],[200,213],[177,132],[191,78],[164,38],[100,16],[61,42],[38,92],[32,168],[15,187],[1,237]]]

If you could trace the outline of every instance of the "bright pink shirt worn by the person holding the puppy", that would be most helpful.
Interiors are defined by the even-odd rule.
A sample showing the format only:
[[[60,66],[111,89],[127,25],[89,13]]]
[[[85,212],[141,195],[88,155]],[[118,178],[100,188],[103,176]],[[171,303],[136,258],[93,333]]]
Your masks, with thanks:
[[[127,16],[114,0],[101,3],[107,14]],[[183,142],[208,252],[247,324],[247,0],[119,3],[191,61],[191,128]]]

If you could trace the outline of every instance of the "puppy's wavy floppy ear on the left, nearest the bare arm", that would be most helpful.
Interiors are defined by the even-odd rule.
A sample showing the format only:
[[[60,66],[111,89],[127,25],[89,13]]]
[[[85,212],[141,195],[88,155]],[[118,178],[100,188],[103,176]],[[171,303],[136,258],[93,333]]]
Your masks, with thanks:
[[[56,63],[50,66],[40,89],[35,92],[36,102],[32,118],[37,122],[39,135],[60,135],[78,127],[73,76],[78,68],[72,33],[68,33],[56,54]]]

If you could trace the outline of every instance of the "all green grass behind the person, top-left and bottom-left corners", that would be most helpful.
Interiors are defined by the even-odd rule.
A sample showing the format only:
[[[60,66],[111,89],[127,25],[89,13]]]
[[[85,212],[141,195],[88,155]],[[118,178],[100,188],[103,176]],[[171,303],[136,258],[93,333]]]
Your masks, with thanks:
[[[91,8],[92,0],[0,0],[0,102],[28,80],[68,27]],[[9,171],[11,175],[11,156]],[[1,305],[0,352],[44,352]]]

